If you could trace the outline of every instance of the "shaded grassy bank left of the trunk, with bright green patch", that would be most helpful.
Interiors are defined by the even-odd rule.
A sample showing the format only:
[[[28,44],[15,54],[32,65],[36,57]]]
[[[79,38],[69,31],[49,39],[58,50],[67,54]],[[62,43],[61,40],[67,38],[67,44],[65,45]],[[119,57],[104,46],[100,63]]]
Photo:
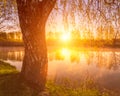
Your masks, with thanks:
[[[36,92],[25,85],[14,66],[0,61],[0,96],[36,96]]]

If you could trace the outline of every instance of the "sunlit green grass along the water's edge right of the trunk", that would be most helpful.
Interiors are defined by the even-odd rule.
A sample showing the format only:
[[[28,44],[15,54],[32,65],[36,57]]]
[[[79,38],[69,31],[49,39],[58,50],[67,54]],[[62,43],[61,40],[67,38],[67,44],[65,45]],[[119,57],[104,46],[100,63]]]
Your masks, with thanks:
[[[62,86],[55,84],[52,81],[48,81],[46,84],[50,96],[109,96],[107,92],[101,92],[96,87],[86,88],[83,86],[72,88],[68,86]]]

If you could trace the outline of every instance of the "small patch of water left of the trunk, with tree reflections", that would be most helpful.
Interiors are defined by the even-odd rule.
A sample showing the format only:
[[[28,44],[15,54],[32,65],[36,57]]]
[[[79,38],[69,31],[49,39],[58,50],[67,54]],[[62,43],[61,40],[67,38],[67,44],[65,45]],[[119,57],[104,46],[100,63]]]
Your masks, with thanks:
[[[23,56],[23,47],[0,47],[0,60],[10,63],[19,71],[22,67]]]

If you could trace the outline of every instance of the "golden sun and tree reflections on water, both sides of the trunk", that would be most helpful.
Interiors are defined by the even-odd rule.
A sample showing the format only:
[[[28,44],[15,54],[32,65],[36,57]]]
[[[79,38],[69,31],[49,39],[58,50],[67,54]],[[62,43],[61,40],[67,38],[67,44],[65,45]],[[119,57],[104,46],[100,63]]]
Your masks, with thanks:
[[[22,61],[24,56],[23,48],[0,48],[0,59],[11,61]],[[56,51],[48,52],[49,62],[66,62],[70,64],[92,65],[98,68],[109,70],[119,70],[120,51],[110,50],[79,50],[70,48],[61,48]],[[56,63],[57,64],[57,63]],[[69,64],[69,65],[70,65]]]

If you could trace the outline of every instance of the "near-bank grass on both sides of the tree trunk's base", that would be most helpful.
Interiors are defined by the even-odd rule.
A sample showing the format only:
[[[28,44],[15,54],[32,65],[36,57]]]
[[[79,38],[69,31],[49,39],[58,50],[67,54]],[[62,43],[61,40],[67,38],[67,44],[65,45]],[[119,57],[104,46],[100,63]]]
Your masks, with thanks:
[[[21,81],[14,66],[0,61],[0,96],[117,96],[100,91],[91,80],[86,80],[79,87],[71,84],[69,80],[65,80],[63,85],[48,81],[46,90],[38,95]]]

